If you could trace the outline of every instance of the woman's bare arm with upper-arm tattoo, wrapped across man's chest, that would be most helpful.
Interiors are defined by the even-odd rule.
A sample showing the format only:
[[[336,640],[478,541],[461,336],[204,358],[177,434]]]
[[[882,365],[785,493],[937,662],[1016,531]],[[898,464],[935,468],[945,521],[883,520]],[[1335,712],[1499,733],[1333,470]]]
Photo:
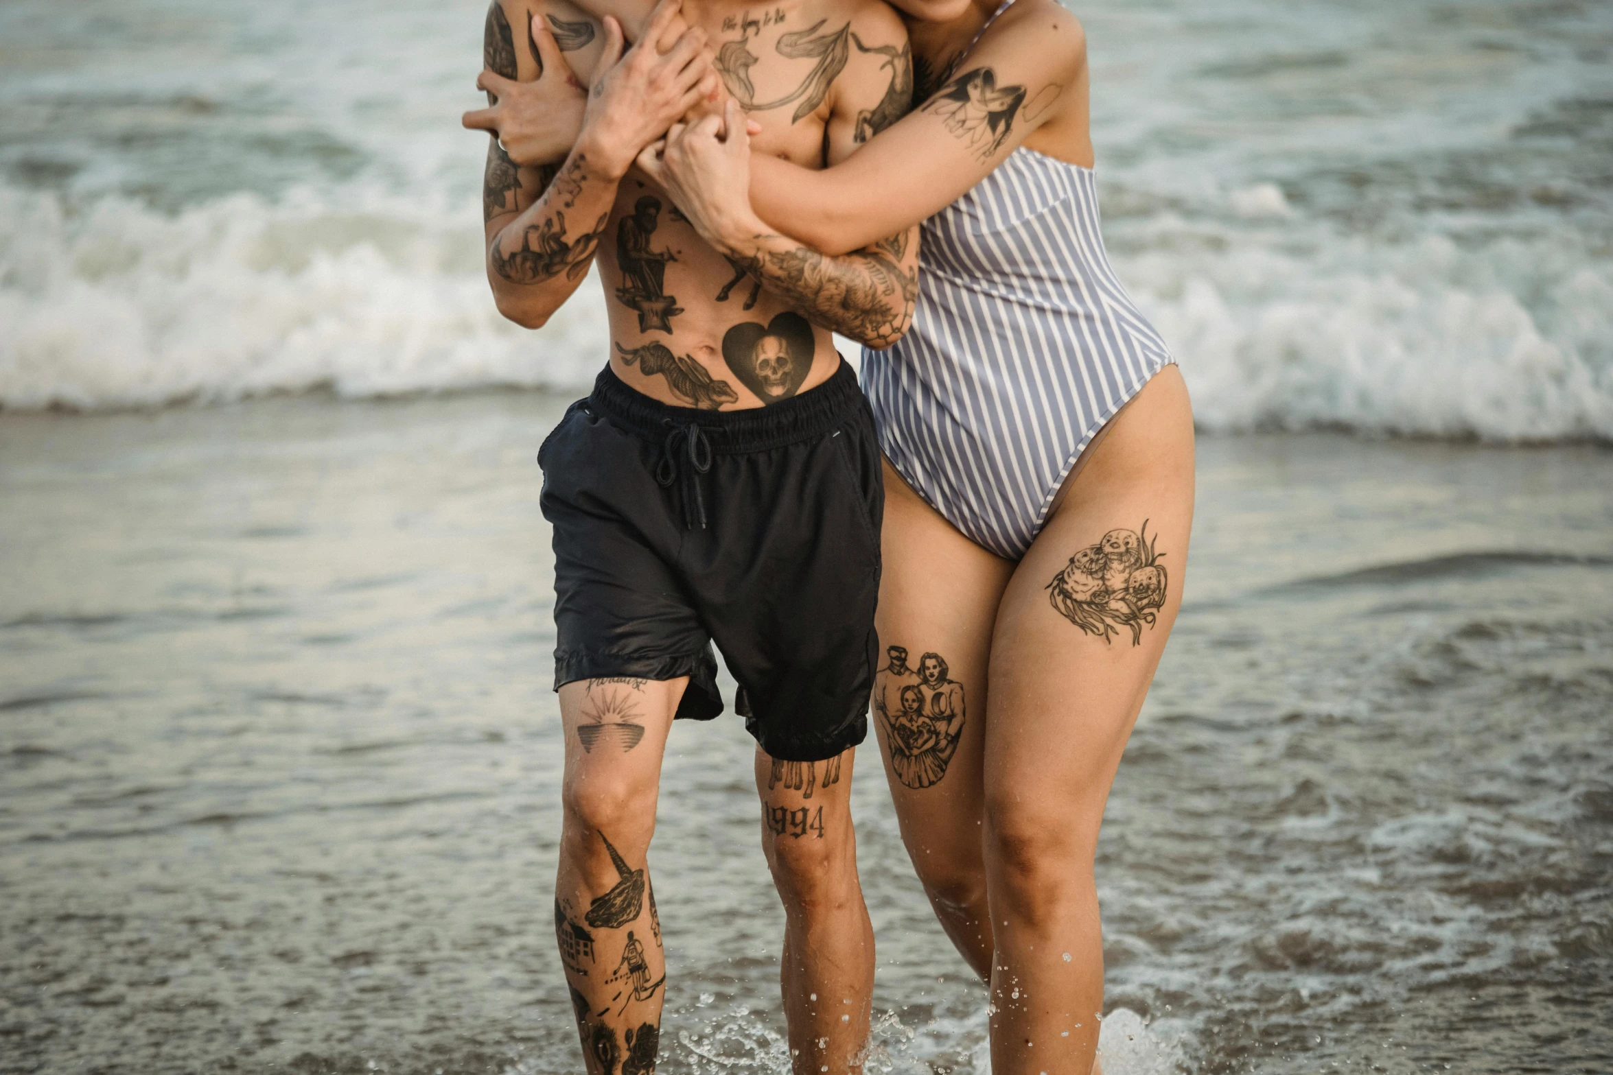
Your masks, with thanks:
[[[844,163],[810,171],[752,160],[756,214],[826,255],[868,247],[934,216],[1060,114],[1086,76],[1086,34],[1055,3],[1019,0],[918,111]]]

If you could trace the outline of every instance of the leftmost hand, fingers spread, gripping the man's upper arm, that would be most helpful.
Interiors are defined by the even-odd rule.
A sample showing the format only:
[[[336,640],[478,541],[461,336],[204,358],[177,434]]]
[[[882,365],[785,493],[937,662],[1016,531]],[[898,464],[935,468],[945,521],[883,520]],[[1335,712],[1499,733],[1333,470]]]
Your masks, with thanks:
[[[471,131],[486,131],[519,168],[537,168],[566,160],[582,131],[589,89],[566,63],[555,35],[537,15],[532,40],[544,64],[536,82],[515,82],[494,71],[482,71],[476,89],[492,93],[492,105],[468,111],[460,119]]]

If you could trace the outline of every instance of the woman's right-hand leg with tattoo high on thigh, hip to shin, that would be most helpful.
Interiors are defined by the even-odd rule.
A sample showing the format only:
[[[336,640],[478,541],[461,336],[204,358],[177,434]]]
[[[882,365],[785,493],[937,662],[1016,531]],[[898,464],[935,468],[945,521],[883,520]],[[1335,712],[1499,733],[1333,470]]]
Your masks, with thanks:
[[[997,1075],[1092,1070],[1103,1007],[1092,861],[1181,606],[1192,509],[1192,411],[1169,366],[1110,422],[1003,593],[984,753]]]

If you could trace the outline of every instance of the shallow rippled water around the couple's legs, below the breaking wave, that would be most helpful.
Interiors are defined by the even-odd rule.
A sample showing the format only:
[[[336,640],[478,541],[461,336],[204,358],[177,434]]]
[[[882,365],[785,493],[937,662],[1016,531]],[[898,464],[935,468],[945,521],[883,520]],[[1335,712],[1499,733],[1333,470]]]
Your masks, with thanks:
[[[0,417],[0,1072],[577,1070],[563,403]],[[1110,1075],[1613,1070],[1613,453],[1200,458],[1100,848]],[[869,1070],[986,1072],[871,751],[855,812]],[[740,722],[679,725],[668,1075],[787,1070],[756,835]]]

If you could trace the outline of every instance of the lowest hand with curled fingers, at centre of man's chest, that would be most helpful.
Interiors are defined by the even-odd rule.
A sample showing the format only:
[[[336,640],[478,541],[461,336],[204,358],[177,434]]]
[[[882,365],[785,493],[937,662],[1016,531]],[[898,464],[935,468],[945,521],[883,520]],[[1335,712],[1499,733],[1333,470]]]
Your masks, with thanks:
[[[769,230],[750,210],[750,126],[731,97],[721,116],[674,124],[639,155],[639,168],[723,251]]]

